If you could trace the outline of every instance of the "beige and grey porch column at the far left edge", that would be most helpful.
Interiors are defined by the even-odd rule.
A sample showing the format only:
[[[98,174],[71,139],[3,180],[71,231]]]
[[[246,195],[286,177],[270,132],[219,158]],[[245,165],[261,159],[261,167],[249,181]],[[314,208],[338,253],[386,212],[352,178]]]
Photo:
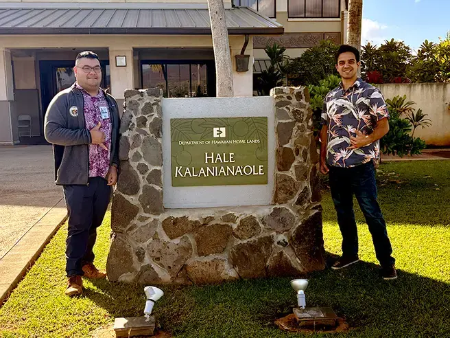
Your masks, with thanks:
[[[19,143],[10,49],[0,47],[0,144]]]

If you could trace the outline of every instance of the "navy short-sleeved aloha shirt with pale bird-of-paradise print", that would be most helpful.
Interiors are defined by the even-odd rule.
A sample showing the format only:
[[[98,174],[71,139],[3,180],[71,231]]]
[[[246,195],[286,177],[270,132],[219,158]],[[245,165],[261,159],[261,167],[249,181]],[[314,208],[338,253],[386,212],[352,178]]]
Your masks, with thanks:
[[[341,82],[327,94],[322,110],[322,125],[328,126],[327,164],[351,168],[379,159],[379,140],[362,148],[348,147],[356,131],[370,135],[385,117],[389,111],[379,89],[357,78],[345,91]]]

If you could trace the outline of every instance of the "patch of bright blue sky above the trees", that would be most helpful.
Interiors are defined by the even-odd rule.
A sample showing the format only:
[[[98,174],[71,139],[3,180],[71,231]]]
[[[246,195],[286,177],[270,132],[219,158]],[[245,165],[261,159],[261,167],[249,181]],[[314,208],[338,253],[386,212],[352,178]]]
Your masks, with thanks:
[[[363,0],[362,44],[402,40],[412,49],[450,30],[450,0]]]

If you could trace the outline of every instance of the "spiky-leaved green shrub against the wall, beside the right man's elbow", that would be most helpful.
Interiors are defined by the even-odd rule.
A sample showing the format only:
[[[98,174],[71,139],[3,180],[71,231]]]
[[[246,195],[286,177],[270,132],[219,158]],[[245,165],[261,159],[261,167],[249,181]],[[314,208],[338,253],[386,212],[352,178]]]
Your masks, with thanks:
[[[425,118],[421,109],[414,113],[412,106],[415,102],[407,101],[406,95],[395,96],[392,100],[386,100],[390,114],[389,131],[381,139],[381,150],[384,154],[399,155],[418,155],[421,150],[426,148],[425,141],[419,137],[414,137],[414,131],[418,126],[431,125],[431,120]],[[403,118],[402,115],[406,115]],[[412,131],[412,135],[410,135]]]

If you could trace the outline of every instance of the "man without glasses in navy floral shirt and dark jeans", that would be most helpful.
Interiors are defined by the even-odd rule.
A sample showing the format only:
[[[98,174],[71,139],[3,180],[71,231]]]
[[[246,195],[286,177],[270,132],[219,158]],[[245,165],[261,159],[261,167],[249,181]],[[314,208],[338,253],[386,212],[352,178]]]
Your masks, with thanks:
[[[320,172],[329,174],[331,196],[342,234],[342,257],[332,269],[357,262],[358,235],[353,194],[361,208],[385,280],[397,277],[386,223],[377,202],[374,161],[379,139],[389,131],[389,112],[380,91],[357,77],[359,51],[342,45],[336,56],[342,82],[328,93],[322,111]]]

